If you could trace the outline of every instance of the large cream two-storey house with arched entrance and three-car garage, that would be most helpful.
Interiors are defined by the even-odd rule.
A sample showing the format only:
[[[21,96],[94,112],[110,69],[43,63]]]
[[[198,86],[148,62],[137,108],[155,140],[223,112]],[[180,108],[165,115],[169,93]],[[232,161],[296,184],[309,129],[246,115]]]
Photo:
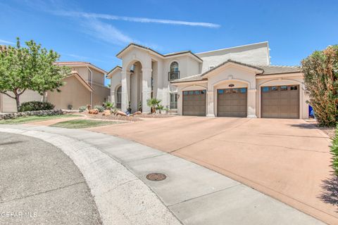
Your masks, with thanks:
[[[270,65],[268,42],[203,53],[161,54],[129,44],[122,67],[108,72],[111,99],[125,111],[149,98],[179,115],[307,118],[303,74],[297,66]]]

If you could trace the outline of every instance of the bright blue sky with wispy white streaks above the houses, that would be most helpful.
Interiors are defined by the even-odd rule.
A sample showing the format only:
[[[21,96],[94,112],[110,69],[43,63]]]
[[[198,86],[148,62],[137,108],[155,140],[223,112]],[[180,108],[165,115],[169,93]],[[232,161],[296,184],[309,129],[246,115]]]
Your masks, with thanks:
[[[338,1],[0,0],[0,44],[34,39],[111,70],[131,41],[161,53],[269,41],[273,65],[338,44]]]

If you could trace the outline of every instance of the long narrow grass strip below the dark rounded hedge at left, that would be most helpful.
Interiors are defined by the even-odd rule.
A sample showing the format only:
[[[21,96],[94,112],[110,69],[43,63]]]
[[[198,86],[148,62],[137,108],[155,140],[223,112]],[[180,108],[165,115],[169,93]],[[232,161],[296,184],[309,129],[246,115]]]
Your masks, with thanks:
[[[61,119],[61,118],[67,118],[67,117],[82,117],[82,115],[32,115],[27,117],[17,117],[15,119],[10,120],[0,120],[0,124],[25,124],[28,122],[39,122],[39,121],[45,121],[45,120],[55,120],[55,119]]]

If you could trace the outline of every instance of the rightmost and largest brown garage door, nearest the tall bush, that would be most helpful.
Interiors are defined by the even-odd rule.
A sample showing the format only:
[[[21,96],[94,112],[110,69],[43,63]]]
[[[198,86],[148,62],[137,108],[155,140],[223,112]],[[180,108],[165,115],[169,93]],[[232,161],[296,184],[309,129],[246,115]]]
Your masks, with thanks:
[[[261,117],[299,118],[299,85],[263,86]]]

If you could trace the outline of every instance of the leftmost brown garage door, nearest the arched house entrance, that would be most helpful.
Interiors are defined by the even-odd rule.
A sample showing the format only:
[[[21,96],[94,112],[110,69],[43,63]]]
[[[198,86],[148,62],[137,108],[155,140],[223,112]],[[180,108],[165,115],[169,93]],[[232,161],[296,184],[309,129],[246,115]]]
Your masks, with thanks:
[[[206,90],[183,91],[183,115],[206,115]]]

